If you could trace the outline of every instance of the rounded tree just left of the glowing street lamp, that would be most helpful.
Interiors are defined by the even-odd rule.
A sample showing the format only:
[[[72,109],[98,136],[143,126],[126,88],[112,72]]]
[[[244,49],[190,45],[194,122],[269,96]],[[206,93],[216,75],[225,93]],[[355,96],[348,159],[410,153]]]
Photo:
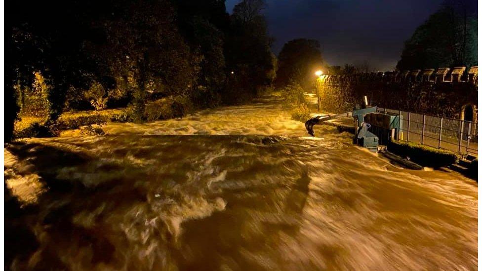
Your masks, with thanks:
[[[313,84],[314,72],[323,66],[320,42],[314,39],[293,39],[283,45],[278,55],[275,86],[282,88],[290,80],[303,87]]]

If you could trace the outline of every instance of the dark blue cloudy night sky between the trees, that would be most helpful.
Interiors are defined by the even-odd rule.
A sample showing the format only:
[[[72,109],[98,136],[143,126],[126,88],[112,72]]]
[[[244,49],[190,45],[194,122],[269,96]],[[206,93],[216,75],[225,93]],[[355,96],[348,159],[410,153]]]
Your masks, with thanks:
[[[226,0],[231,13],[240,0]],[[328,65],[368,61],[376,70],[395,68],[403,42],[442,0],[267,0],[273,51],[291,39],[318,39]]]

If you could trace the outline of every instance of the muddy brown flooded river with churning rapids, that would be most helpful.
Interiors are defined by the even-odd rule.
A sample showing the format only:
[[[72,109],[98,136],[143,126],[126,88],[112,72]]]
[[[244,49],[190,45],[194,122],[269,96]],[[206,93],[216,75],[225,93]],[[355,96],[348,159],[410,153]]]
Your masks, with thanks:
[[[477,183],[276,97],[4,151],[12,270],[477,270]]]

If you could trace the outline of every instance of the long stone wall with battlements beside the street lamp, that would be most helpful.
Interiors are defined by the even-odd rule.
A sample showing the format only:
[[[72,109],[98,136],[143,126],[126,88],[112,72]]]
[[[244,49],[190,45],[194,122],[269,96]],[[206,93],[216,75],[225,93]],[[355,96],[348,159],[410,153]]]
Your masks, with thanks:
[[[332,113],[352,110],[366,95],[371,105],[452,118],[470,106],[477,121],[478,67],[324,75],[317,91],[321,110]]]

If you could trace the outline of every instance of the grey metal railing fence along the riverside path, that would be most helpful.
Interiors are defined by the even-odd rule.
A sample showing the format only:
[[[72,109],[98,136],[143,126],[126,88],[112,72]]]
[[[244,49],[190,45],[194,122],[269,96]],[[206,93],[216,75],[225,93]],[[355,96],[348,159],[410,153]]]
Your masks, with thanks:
[[[478,156],[478,123],[400,110],[378,108],[379,112],[402,116],[399,139],[461,155]]]

